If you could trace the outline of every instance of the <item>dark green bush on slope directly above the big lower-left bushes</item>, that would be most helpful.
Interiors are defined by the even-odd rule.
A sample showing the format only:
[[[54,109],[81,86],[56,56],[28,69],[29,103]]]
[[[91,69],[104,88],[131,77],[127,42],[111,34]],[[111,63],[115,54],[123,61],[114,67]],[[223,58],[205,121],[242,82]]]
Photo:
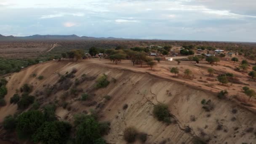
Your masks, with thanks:
[[[23,93],[18,104],[18,109],[27,109],[30,104],[33,104],[35,100],[34,96],[29,96],[28,93]]]

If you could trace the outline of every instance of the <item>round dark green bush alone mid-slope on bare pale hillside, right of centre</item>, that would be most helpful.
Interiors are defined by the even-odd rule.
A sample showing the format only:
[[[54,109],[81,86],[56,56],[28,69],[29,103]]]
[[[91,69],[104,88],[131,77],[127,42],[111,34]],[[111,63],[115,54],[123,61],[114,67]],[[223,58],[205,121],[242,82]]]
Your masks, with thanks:
[[[170,116],[168,106],[165,104],[157,104],[154,106],[153,115],[157,117],[157,120],[163,121]]]

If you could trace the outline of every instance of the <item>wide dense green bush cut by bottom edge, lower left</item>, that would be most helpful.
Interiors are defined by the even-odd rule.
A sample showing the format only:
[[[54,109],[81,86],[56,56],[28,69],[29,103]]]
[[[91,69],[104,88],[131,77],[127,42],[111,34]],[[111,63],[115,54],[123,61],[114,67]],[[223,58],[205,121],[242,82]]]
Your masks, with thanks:
[[[67,122],[45,122],[32,136],[35,143],[65,144],[69,139],[71,125]]]

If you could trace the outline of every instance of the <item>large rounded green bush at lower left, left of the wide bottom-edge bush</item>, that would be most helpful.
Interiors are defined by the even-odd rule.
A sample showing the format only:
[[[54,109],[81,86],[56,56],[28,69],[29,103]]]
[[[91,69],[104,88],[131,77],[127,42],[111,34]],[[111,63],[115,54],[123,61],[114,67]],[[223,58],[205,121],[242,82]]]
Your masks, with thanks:
[[[30,139],[44,122],[43,113],[40,111],[23,112],[17,117],[16,132],[19,139]]]

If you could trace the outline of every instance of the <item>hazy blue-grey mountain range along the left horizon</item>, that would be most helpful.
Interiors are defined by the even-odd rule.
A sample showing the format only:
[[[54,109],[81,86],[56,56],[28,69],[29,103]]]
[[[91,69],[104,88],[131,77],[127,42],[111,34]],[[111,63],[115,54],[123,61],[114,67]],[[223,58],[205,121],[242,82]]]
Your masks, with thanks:
[[[77,35],[30,35],[25,37],[0,35],[0,40],[128,40],[116,37],[79,37]],[[133,39],[134,40],[134,39]]]

